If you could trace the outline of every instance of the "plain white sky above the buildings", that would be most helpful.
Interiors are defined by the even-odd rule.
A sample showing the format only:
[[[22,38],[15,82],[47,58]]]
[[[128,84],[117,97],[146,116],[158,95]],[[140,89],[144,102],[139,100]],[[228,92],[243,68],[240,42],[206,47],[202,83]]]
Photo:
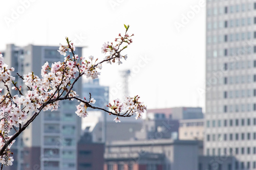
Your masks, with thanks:
[[[101,71],[100,84],[111,87],[111,99],[122,96],[121,89],[115,92],[120,70],[131,69],[130,95],[140,95],[148,108],[204,107],[198,89],[205,84],[205,7],[195,16],[190,8],[200,1],[31,1],[0,2],[0,50],[8,43],[57,46],[68,36],[77,46],[88,46],[84,57],[103,59],[102,44],[129,24],[135,36],[123,53],[127,61],[103,65]],[[178,32],[174,23],[187,14],[191,17]]]

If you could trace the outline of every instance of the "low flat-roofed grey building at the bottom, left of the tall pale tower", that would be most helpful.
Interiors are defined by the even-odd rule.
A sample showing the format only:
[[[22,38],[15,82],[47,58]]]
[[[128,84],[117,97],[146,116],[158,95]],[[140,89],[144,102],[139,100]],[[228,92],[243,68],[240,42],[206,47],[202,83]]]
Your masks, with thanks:
[[[148,154],[147,154],[148,153]],[[160,154],[158,158],[143,159],[146,155]],[[135,154],[135,155],[134,155]],[[137,156],[136,156],[137,154]],[[160,157],[161,154],[163,157]],[[198,168],[198,142],[180,140],[118,141],[106,145],[106,163],[117,163],[120,159],[134,160],[139,165],[161,165],[163,169],[191,170]],[[184,163],[186,160],[186,163]],[[141,168],[142,168],[141,166]],[[160,167],[160,166],[158,166]],[[136,169],[136,168],[135,168]]]

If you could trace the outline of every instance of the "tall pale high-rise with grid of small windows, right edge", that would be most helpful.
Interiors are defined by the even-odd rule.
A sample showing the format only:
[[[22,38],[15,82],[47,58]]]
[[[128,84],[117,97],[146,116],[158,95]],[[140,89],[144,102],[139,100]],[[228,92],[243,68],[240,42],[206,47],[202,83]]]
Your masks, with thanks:
[[[256,168],[256,2],[206,3],[204,154]]]

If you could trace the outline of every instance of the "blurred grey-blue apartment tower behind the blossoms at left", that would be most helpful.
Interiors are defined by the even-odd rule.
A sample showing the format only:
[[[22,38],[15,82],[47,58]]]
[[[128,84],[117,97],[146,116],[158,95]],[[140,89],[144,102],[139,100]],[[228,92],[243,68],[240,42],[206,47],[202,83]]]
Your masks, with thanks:
[[[33,71],[41,77],[41,66],[48,62],[63,62],[58,46],[28,45],[18,47],[8,44],[4,52],[5,62],[15,68],[13,76],[23,85],[20,75]],[[81,56],[82,48],[76,47],[75,54]],[[69,55],[69,54],[68,54]],[[25,85],[24,85],[25,86]],[[81,81],[74,86],[80,94]],[[41,112],[19,137],[14,146],[16,160],[9,169],[62,170],[77,169],[77,142],[81,135],[81,118],[75,114],[77,101],[59,102],[58,111]],[[29,113],[31,116],[31,113]]]

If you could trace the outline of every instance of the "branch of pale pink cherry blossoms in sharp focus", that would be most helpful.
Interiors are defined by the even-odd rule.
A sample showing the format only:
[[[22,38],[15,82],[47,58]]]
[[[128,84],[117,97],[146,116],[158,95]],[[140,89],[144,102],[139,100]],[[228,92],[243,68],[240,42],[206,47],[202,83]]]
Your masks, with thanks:
[[[66,52],[69,51],[72,53],[73,57],[67,56],[64,58],[64,62],[55,62],[49,66],[49,63],[46,62],[41,69],[41,77],[34,75],[33,72],[30,72],[28,75],[20,76],[24,84],[27,86],[28,91],[25,95],[22,93],[22,86],[17,87],[14,83],[15,78],[11,76],[10,72],[14,71],[14,68],[7,68],[8,65],[3,62],[3,55],[0,53],[0,80],[4,83],[4,86],[7,88],[7,93],[1,97],[0,102],[0,163],[3,167],[3,155],[8,155],[8,162],[5,165],[12,164],[12,157],[10,157],[10,148],[14,139],[19,136],[39,115],[41,110],[44,111],[51,109],[57,110],[58,102],[62,100],[77,100],[80,102],[76,106],[77,111],[75,112],[80,117],[87,117],[88,112],[87,108],[102,110],[110,115],[115,115],[114,119],[116,122],[120,122],[118,117],[130,117],[136,114],[136,119],[141,118],[142,113],[146,109],[146,106],[143,103],[139,102],[139,96],[131,98],[126,96],[124,102],[120,102],[119,99],[114,100],[114,104],[109,103],[107,107],[111,110],[107,110],[100,107],[95,107],[94,104],[96,101],[92,98],[90,93],[90,99],[87,101],[77,98],[76,92],[73,90],[75,83],[82,77],[86,76],[87,78],[96,79],[100,72],[98,69],[102,68],[102,63],[115,63],[121,64],[121,59],[126,60],[127,55],[122,56],[121,52],[127,47],[124,46],[121,48],[123,43],[130,44],[132,43],[131,37],[127,35],[127,30],[129,25],[125,26],[125,35],[119,38],[116,38],[116,44],[114,43],[104,43],[101,51],[103,54],[109,53],[102,61],[96,63],[98,58],[94,61],[94,57],[90,56],[89,61],[85,58],[75,55],[75,46],[69,41],[66,37],[68,45],[61,45],[58,52],[66,56]],[[76,76],[75,74],[78,75]],[[71,83],[71,80],[74,80]],[[18,94],[12,96],[9,84],[12,84],[12,89],[18,91]],[[68,86],[70,86],[68,88]],[[62,90],[62,91],[61,91]],[[0,92],[2,89],[0,89]],[[66,93],[65,93],[66,92]],[[32,112],[32,116],[27,118],[28,113]],[[8,127],[6,127],[6,124]],[[8,136],[8,133],[11,129],[15,130],[14,135]],[[18,129],[16,129],[18,128]],[[3,133],[2,133],[3,132]]]

